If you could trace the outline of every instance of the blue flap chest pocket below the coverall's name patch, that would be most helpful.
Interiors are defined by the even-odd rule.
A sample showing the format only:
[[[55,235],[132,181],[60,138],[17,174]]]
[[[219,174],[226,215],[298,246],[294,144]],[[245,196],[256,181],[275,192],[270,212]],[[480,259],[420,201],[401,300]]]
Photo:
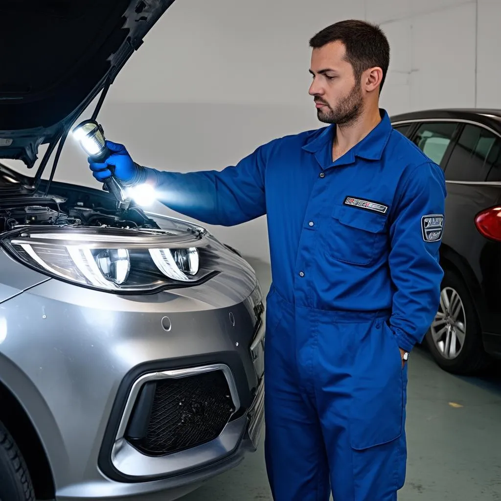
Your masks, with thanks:
[[[332,258],[352,265],[371,265],[387,248],[386,223],[385,214],[335,206],[328,239]]]

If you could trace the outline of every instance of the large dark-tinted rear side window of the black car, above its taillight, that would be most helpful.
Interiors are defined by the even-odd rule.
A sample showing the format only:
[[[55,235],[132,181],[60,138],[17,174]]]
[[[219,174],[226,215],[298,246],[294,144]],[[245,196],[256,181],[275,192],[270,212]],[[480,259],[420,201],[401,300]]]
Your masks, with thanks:
[[[485,181],[491,168],[498,165],[500,146],[494,133],[466,124],[447,162],[445,177],[449,181]],[[493,169],[488,177],[495,177],[498,170]]]

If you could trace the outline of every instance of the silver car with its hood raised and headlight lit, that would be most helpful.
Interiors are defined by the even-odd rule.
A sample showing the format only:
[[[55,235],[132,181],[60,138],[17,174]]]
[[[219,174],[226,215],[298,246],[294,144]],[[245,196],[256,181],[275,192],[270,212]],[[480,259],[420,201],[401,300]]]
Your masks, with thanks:
[[[177,499],[260,441],[260,285],[196,224],[53,181],[172,0],[21,4],[0,7],[0,157],[48,149],[0,166],[0,500]]]

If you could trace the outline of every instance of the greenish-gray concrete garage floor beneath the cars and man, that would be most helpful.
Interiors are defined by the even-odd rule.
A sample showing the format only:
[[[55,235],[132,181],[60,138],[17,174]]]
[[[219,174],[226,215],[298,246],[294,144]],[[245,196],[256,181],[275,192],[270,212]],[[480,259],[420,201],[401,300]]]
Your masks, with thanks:
[[[248,259],[266,294],[268,266]],[[499,364],[501,366],[501,363]],[[501,370],[450,375],[416,348],[409,359],[407,478],[399,501],[501,501]],[[271,501],[263,441],[238,467],[183,501]]]

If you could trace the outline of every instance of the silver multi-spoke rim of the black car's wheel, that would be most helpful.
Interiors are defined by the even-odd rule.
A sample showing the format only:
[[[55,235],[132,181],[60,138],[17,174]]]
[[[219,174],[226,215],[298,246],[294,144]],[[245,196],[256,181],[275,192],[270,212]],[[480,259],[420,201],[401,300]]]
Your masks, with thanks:
[[[452,287],[445,287],[440,293],[440,307],[431,324],[431,336],[443,358],[453,360],[461,353],[466,336],[466,317],[463,302]]]

